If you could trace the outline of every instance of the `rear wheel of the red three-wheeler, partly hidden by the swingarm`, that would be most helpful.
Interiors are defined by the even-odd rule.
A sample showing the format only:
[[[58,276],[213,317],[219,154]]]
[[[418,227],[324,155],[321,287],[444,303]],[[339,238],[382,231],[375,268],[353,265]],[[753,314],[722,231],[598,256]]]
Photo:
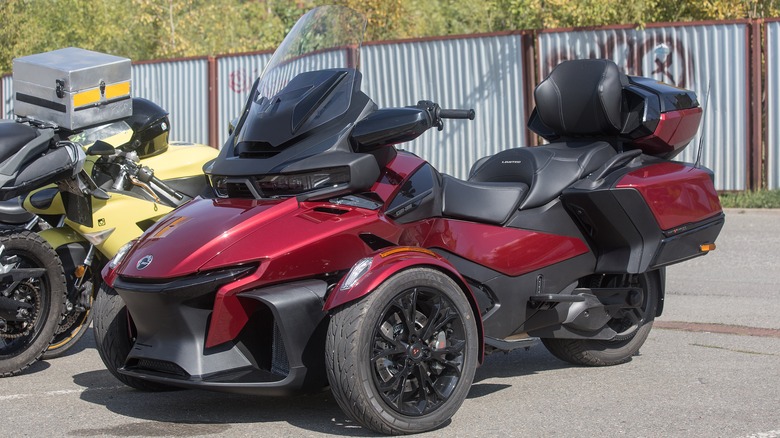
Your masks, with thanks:
[[[631,282],[638,282],[632,284]],[[638,308],[624,309],[607,325],[617,333],[610,341],[591,339],[543,338],[542,343],[553,356],[574,365],[609,366],[631,360],[639,352],[653,327],[661,280],[657,271],[631,280],[628,275],[597,275],[586,281],[588,287],[639,286],[644,291]]]

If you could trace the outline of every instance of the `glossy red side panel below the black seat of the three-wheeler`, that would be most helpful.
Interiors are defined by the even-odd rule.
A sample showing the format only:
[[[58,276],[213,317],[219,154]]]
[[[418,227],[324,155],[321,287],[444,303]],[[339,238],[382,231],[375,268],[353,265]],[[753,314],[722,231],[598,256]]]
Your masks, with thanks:
[[[575,237],[438,218],[425,248],[441,248],[509,276],[518,276],[589,251]]]

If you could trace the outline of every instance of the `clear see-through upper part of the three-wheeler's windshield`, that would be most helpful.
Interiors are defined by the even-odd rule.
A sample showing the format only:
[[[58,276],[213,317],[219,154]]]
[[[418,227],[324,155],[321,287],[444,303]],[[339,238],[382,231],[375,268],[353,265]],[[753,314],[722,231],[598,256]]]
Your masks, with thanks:
[[[366,20],[343,6],[321,6],[301,17],[268,62],[255,101],[278,93],[295,76],[330,68],[357,68]]]

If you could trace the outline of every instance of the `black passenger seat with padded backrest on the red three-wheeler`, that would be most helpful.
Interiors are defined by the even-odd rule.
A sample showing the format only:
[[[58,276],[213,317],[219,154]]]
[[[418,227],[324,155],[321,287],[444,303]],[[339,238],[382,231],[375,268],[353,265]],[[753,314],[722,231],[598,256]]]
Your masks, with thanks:
[[[467,184],[514,183],[521,192],[516,207],[521,210],[552,201],[617,154],[615,145],[607,140],[617,138],[624,123],[626,85],[626,75],[609,60],[559,64],[536,87],[536,109],[531,115],[533,123],[529,122],[532,129],[541,126],[549,134],[547,138],[556,141],[482,158],[472,167]],[[501,190],[506,190],[505,186]],[[498,215],[491,218],[496,220]]]

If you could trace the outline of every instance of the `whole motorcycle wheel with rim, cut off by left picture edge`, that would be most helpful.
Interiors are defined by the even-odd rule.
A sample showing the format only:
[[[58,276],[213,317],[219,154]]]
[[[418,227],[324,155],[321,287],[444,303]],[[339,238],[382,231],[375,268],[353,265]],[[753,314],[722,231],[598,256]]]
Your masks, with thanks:
[[[57,253],[28,231],[0,236],[0,377],[17,374],[49,346],[65,299],[65,275]],[[13,279],[14,269],[43,268],[41,276]]]

